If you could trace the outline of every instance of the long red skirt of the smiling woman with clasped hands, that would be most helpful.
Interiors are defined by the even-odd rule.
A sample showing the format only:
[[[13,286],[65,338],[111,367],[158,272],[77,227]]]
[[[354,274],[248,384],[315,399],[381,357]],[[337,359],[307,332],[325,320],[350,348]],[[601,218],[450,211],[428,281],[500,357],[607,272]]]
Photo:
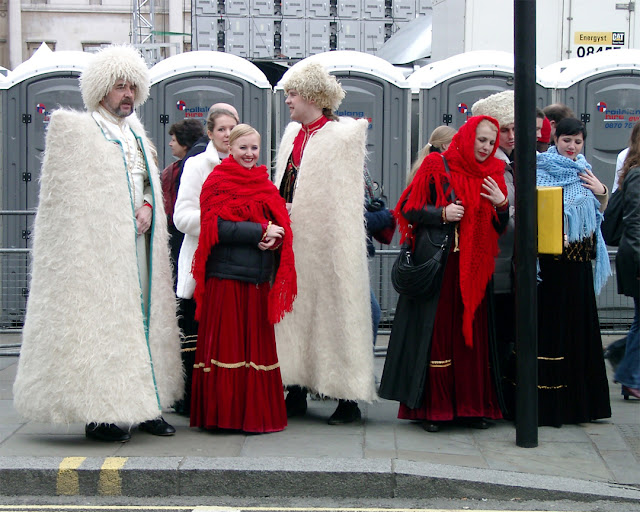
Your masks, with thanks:
[[[205,284],[191,391],[191,426],[277,432],[287,426],[269,284]]]

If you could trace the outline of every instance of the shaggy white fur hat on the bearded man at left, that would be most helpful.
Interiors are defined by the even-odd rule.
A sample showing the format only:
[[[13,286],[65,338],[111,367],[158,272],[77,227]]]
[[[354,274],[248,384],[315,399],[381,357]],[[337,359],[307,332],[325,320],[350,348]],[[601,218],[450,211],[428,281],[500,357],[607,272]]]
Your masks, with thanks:
[[[97,110],[118,80],[127,80],[137,87],[135,107],[147,101],[149,69],[140,52],[133,46],[107,46],[91,59],[80,75],[80,91],[87,110]]]

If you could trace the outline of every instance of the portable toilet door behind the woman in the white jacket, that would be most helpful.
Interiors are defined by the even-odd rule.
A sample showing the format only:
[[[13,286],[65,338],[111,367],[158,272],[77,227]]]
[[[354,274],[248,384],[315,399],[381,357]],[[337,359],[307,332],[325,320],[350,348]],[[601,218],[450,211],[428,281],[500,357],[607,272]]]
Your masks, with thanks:
[[[198,76],[167,82],[159,94],[159,112],[167,116],[167,123],[160,127],[158,140],[154,141],[158,149],[158,162],[161,169],[174,161],[169,148],[169,127],[182,119],[199,119],[205,127],[209,108],[214,103],[229,103],[238,111],[243,120],[242,99],[244,87],[236,82],[220,77]],[[153,120],[159,123],[159,119]],[[246,121],[250,122],[250,121]],[[256,127],[258,129],[258,127]],[[147,127],[149,129],[149,127]]]

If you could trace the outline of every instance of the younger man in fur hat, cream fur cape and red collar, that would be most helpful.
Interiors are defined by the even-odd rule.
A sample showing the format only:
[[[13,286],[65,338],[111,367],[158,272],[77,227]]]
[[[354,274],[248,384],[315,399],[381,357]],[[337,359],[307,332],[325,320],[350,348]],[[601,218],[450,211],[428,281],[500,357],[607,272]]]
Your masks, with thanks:
[[[307,389],[340,399],[329,424],[361,418],[375,398],[369,273],[364,225],[368,121],[338,119],[345,92],[322,65],[283,77],[291,120],[276,161],[276,185],[290,208],[298,296],[276,325],[287,414],[307,410]]]

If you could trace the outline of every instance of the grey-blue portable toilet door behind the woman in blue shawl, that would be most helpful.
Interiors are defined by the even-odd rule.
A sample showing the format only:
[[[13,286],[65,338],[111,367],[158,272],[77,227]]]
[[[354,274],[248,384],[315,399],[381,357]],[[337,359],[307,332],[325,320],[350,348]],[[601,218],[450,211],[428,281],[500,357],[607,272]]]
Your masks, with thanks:
[[[583,87],[576,115],[588,119],[584,154],[611,190],[618,153],[628,146],[631,129],[640,120],[640,75],[596,77]]]

